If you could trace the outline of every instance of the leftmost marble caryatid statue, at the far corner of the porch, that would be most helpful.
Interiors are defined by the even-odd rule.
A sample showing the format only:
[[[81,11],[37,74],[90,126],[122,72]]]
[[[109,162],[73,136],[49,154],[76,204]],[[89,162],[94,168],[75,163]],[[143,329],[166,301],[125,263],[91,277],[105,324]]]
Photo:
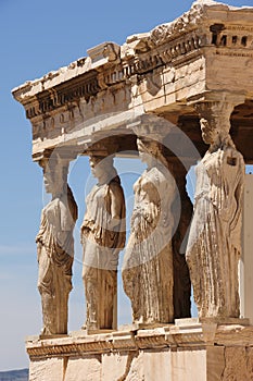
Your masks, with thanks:
[[[40,164],[45,189],[52,194],[52,200],[42,209],[36,237],[43,316],[41,334],[66,334],[77,205],[67,184],[68,165],[59,157],[43,159]]]

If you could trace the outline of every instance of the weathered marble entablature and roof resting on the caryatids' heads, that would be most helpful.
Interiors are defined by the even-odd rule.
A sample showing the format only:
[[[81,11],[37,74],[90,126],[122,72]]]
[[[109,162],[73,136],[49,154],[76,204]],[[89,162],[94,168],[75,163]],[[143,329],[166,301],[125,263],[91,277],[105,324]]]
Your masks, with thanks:
[[[33,125],[34,159],[65,144],[81,153],[91,137],[118,127],[126,133],[139,114],[174,123],[182,114],[198,119],[189,101],[230,93],[246,99],[232,120],[240,130],[236,145],[253,162],[252,13],[250,7],[195,1],[173,22],[129,36],[121,47],[102,42],[88,57],[15,88]],[[195,130],[190,135],[203,149]]]

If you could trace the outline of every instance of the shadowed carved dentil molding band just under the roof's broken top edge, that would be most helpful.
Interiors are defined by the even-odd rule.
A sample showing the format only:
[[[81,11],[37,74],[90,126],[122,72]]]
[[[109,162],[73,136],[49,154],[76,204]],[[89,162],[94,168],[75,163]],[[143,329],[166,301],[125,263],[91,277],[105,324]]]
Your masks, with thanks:
[[[230,33],[230,35],[223,34],[215,39],[211,35],[211,32],[210,36],[207,36],[206,33],[201,33],[201,30],[191,30],[176,39],[174,38],[173,41],[168,41],[165,38],[167,33],[165,33],[160,40],[165,41],[164,46],[157,49],[150,49],[148,52],[136,53],[130,59],[127,52],[132,50],[132,48],[131,46],[128,48],[125,46],[125,57],[122,57],[122,63],[118,61],[116,63],[112,62],[109,69],[105,67],[99,72],[91,70],[86,74],[56,85],[52,89],[38,93],[26,105],[26,116],[33,119],[47,114],[60,107],[75,101],[78,102],[81,98],[88,101],[91,96],[96,96],[102,89],[126,82],[134,75],[148,75],[152,71],[167,64],[173,66],[182,63],[187,64],[195,54],[201,53],[200,49],[203,47],[215,46],[217,56],[253,57],[251,36],[240,37]]]

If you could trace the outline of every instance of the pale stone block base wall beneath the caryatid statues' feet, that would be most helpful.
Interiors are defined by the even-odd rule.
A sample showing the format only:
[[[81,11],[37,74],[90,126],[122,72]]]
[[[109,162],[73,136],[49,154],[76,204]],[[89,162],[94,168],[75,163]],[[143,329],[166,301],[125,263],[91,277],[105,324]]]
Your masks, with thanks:
[[[252,380],[246,319],[180,319],[175,325],[27,339],[29,381]]]

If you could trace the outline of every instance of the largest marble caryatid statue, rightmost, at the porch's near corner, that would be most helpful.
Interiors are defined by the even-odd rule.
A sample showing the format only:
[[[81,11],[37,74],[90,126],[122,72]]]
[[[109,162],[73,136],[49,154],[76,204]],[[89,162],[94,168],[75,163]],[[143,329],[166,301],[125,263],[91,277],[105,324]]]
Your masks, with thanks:
[[[244,161],[229,135],[232,109],[215,102],[199,110],[210,148],[195,168],[187,263],[199,317],[238,318]]]

